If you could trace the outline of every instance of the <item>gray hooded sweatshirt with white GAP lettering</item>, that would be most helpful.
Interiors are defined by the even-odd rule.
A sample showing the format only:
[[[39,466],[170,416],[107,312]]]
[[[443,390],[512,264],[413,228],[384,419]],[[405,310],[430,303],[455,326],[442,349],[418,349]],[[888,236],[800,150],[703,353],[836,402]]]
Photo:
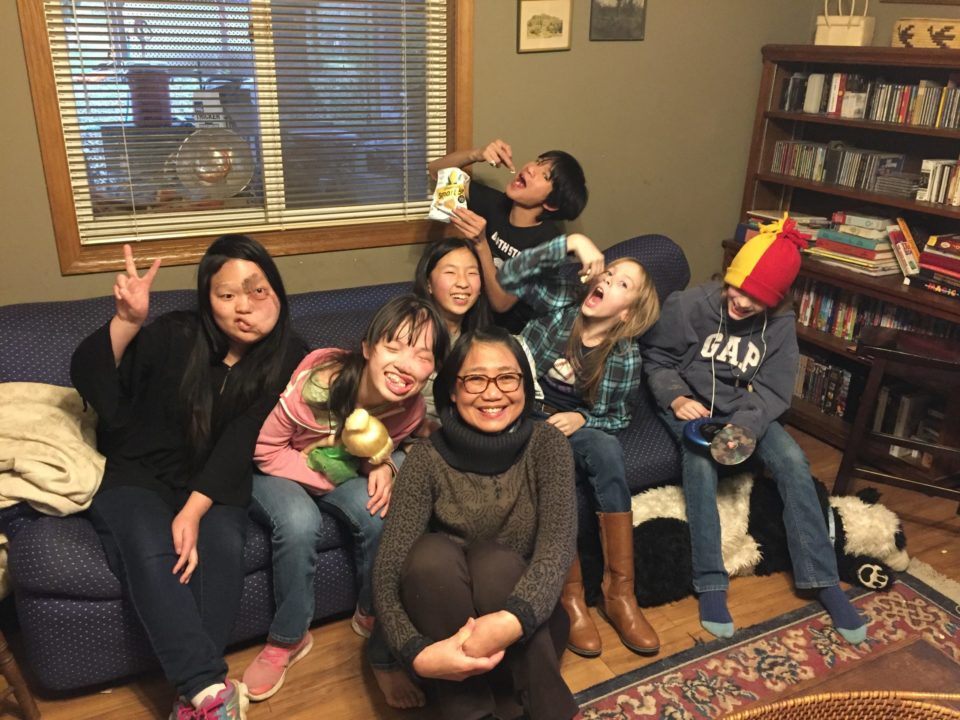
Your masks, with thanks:
[[[642,338],[643,369],[664,410],[692,397],[713,415],[763,437],[790,407],[797,374],[792,309],[731,320],[720,282],[673,293]],[[715,382],[714,382],[715,381]]]

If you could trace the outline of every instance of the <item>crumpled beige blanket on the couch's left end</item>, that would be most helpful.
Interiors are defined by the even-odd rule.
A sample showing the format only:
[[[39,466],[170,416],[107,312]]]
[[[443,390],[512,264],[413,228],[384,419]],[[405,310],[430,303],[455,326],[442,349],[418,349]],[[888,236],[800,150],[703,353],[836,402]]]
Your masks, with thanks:
[[[95,426],[93,409],[84,412],[73,388],[0,383],[0,508],[27,502],[48,515],[85,510],[103,478]]]

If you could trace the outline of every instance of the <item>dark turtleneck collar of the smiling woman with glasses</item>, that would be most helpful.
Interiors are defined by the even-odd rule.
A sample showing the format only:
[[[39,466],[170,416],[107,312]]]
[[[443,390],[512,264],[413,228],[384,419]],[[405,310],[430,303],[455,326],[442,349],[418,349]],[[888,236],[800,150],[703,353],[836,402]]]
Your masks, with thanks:
[[[443,425],[430,442],[447,464],[462,472],[499,475],[517,461],[533,432],[533,421],[521,418],[499,433],[480,432],[467,425],[455,408],[447,408]]]

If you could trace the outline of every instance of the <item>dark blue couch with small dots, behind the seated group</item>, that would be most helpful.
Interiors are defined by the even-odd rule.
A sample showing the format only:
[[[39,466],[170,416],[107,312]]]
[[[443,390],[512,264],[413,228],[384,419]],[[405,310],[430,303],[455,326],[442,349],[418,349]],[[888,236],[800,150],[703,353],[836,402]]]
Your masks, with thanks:
[[[661,299],[686,286],[683,252],[662,235],[618,243],[608,259],[630,255],[653,275]],[[359,343],[373,312],[407,283],[304,293],[290,298],[293,323],[312,347]],[[156,292],[151,313],[188,308],[192,291]],[[111,297],[0,307],[0,382],[69,385],[69,360],[82,338],[113,313]],[[645,388],[638,388],[634,419],[621,434],[634,492],[679,477],[673,440],[660,425]],[[156,660],[120,582],[107,567],[92,525],[83,514],[39,515],[23,504],[0,511],[9,538],[9,569],[26,666],[36,684],[53,691],[106,683],[156,666]],[[315,619],[353,609],[349,536],[326,523],[316,578]],[[270,543],[251,522],[245,548],[243,599],[232,643],[266,635],[274,612]]]

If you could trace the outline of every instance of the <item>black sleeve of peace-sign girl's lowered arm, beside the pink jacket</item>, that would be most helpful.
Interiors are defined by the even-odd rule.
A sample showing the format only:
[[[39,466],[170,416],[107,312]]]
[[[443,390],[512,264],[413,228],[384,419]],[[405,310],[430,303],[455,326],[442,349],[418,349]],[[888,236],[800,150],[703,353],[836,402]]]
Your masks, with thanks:
[[[257,435],[276,405],[286,378],[293,373],[303,354],[299,339],[287,345],[281,375],[283,381],[264,387],[253,403],[224,427],[203,468],[192,478],[191,490],[225,505],[245,506],[250,503]]]

